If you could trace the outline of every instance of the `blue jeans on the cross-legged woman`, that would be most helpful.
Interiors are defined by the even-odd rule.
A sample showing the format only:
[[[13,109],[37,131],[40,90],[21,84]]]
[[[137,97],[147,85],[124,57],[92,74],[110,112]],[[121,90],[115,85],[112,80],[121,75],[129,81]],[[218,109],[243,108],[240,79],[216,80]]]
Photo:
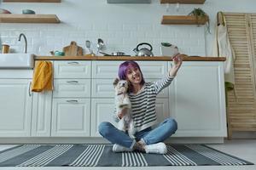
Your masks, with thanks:
[[[135,139],[131,139],[129,135],[118,128],[114,127],[110,122],[101,122],[99,125],[99,133],[103,138],[108,139],[113,144],[119,144],[126,148],[131,148],[136,141],[143,140],[145,144],[155,144],[163,142],[169,138],[177,130],[177,122],[172,118],[167,118],[161,122],[158,127],[152,129],[148,127],[140,132],[135,133]]]

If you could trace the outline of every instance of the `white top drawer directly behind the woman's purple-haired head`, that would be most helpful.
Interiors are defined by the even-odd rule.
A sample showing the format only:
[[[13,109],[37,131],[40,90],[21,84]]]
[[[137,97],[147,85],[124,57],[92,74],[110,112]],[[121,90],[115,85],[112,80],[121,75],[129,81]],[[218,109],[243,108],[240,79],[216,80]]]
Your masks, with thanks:
[[[118,77],[119,65],[124,61],[92,61],[92,78],[114,79]],[[166,61],[137,61],[144,78],[165,77],[168,71]]]

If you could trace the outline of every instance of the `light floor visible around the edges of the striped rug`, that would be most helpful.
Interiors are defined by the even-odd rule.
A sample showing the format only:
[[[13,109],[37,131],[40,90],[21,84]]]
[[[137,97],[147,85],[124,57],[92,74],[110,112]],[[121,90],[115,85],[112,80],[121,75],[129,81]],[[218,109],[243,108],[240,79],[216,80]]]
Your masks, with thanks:
[[[224,151],[241,159],[256,164],[256,139],[233,139],[224,144],[207,144],[212,148]],[[7,149],[14,144],[0,144],[0,150]],[[0,170],[256,170],[253,166],[198,166],[198,167],[0,167]]]

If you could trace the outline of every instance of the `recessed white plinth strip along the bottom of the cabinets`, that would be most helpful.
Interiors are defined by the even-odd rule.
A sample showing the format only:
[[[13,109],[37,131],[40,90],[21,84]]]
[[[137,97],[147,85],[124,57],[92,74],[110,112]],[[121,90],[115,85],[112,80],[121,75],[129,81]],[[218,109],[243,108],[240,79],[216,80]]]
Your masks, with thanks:
[[[167,139],[166,144],[223,144],[224,138],[178,138]],[[102,138],[71,138],[71,137],[30,137],[0,138],[0,144],[109,144]]]

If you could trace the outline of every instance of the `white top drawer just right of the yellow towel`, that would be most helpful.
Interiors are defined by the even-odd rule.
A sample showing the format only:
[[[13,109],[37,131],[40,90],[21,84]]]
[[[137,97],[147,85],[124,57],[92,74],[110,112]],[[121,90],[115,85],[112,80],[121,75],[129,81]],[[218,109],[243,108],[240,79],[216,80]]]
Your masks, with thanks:
[[[90,78],[91,61],[54,61],[55,78]]]

